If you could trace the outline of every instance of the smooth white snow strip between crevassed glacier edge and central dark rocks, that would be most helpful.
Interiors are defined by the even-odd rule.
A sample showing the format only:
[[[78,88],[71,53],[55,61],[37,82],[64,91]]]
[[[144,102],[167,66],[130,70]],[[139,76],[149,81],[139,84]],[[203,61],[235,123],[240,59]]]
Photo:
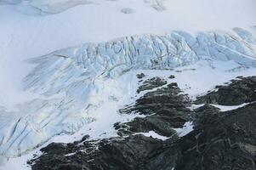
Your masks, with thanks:
[[[74,140],[82,139],[86,134],[90,136],[90,139],[114,137],[117,136],[117,130],[113,127],[114,123],[129,122],[135,116],[139,116],[138,114],[122,115],[118,112],[124,105],[134,102],[133,97],[136,94],[138,86],[136,72],[131,71],[119,77],[117,80],[109,81],[106,83],[109,88],[104,91],[104,94],[100,95],[102,104],[98,108],[92,108],[89,111],[89,115],[96,121],[82,127],[77,133],[71,135],[62,134],[54,137],[52,141],[70,143]]]

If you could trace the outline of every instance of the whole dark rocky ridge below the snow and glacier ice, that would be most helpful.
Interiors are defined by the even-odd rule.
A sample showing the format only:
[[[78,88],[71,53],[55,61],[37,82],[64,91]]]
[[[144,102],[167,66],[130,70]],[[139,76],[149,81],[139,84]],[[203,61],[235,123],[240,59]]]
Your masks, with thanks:
[[[151,80],[154,87],[154,80],[162,82],[159,77]],[[146,81],[151,84],[151,80]],[[219,90],[214,91],[214,96],[218,94],[219,98],[232,101],[230,98],[234,96],[225,94],[235,90],[252,96],[249,91],[253,94],[255,87],[255,77],[238,77],[230,84],[217,87]],[[223,88],[225,93],[220,90]],[[191,101],[177,83],[160,85],[120,111],[120,114],[135,111],[145,116],[131,122],[117,122],[114,127],[119,137],[89,140],[85,136],[71,144],[49,144],[42,149],[42,156],[29,163],[33,170],[256,169],[256,99],[249,98],[249,104],[236,110],[220,111],[208,104],[211,103],[208,96],[212,95],[213,92],[209,92],[200,96],[200,103],[206,101],[205,105],[189,109],[199,100]],[[175,133],[175,128],[183,127],[188,121],[194,124],[191,133],[184,136]],[[150,131],[168,139],[145,136]]]

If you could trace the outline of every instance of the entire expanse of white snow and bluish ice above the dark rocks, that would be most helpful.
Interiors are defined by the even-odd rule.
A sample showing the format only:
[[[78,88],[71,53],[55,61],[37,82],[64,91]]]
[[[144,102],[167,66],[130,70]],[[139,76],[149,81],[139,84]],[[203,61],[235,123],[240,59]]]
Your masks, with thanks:
[[[29,169],[26,159],[52,141],[117,135],[113,123],[138,116],[117,111],[135,100],[141,71],[175,75],[192,98],[256,72],[254,0],[0,4],[1,170]]]

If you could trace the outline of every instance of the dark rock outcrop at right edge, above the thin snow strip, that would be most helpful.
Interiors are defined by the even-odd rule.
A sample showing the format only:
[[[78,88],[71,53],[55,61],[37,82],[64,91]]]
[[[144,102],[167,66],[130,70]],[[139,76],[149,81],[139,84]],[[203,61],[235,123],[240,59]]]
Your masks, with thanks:
[[[228,86],[218,86],[205,96],[198,97],[196,104],[242,105],[256,100],[256,77],[238,77]],[[242,80],[242,81],[241,81]]]

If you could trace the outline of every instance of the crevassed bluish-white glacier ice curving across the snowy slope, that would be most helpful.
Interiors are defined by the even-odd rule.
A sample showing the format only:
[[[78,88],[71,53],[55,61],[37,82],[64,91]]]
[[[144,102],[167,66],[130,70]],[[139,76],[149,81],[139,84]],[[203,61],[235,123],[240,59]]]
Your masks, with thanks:
[[[256,37],[242,28],[196,35],[172,31],[85,43],[29,59],[35,67],[23,80],[24,90],[40,98],[14,111],[0,107],[0,157],[23,155],[55,135],[75,133],[97,121],[94,112],[100,105],[130,97],[133,82],[117,81],[126,72],[168,70],[200,60],[256,67]]]

